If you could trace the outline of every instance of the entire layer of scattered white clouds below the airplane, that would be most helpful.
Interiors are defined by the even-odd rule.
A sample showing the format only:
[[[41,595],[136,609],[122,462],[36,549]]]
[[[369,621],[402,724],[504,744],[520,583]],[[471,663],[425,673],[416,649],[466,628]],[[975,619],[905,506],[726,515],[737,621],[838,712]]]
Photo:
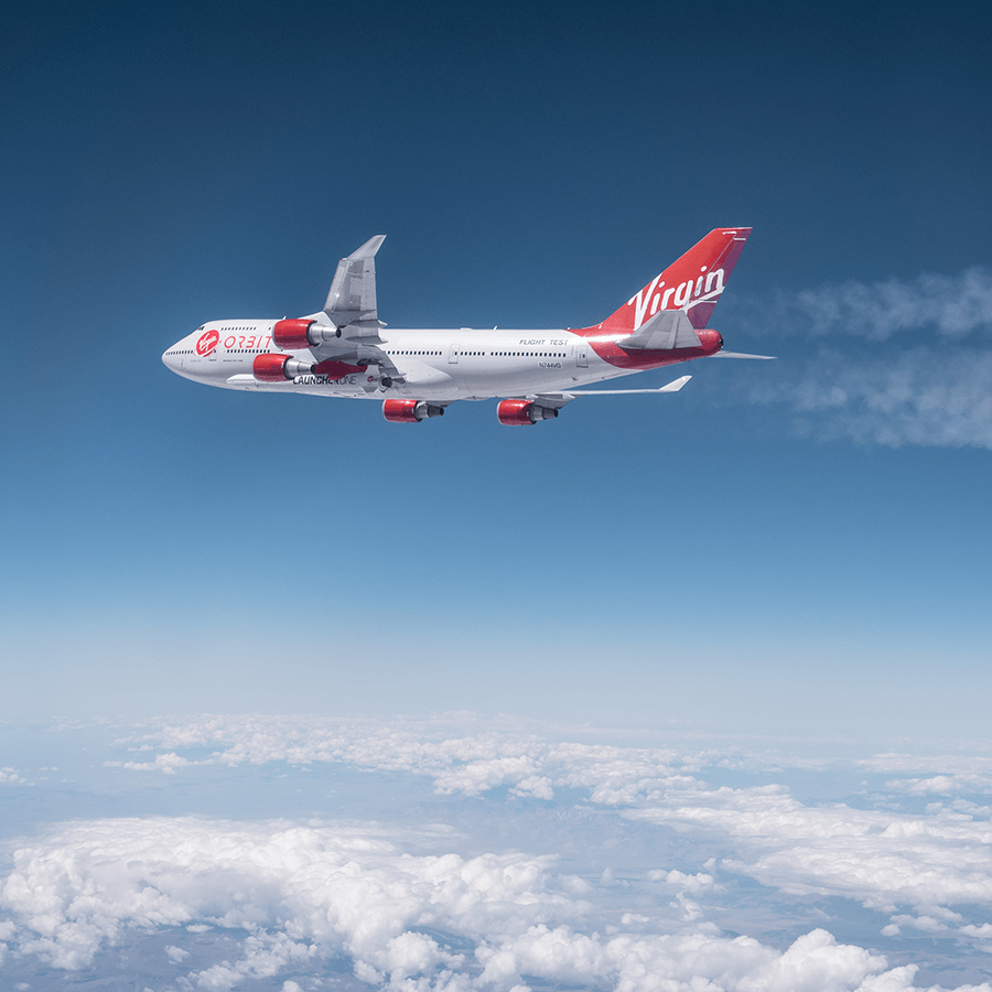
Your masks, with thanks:
[[[581,743],[468,716],[204,716],[136,727],[116,750],[106,774],[159,789],[227,769],[272,781],[280,765],[317,781],[320,766],[335,766],[373,786],[406,775],[434,799],[405,806],[402,826],[57,826],[11,851],[0,882],[8,964],[98,968],[110,949],[154,939],[157,992],[263,980],[310,992],[328,969],[343,988],[406,992],[895,992],[919,977],[906,951],[916,939],[992,960],[984,756],[864,757],[850,772],[884,786],[852,804],[747,784],[790,764],[816,774],[816,762],[780,753]],[[727,776],[741,780],[711,783]],[[511,833],[488,826],[499,818]],[[830,899],[876,921],[839,941],[830,921],[844,914]]]

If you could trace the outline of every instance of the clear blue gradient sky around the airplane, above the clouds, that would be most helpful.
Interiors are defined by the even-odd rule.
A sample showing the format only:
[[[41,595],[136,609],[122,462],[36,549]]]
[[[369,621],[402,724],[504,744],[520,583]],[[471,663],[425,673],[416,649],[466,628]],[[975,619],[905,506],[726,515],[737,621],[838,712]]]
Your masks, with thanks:
[[[7,20],[0,716],[984,732],[992,311],[881,337],[783,320],[805,291],[988,285],[981,6]],[[316,310],[374,234],[393,327],[542,328],[602,319],[727,224],[754,235],[711,323],[779,362],[696,363],[678,396],[533,431],[160,362],[206,320]],[[913,362],[968,430],[797,398]]]

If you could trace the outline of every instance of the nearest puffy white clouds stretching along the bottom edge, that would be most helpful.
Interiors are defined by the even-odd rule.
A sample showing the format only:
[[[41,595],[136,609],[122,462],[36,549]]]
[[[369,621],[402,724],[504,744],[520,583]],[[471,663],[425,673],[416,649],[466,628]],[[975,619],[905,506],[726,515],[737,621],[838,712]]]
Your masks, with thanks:
[[[779,952],[705,921],[632,915],[638,932],[602,937],[602,912],[562,884],[551,859],[413,856],[374,826],[72,823],[15,853],[0,905],[17,925],[18,951],[63,969],[87,967],[134,927],[203,919],[248,930],[240,957],[185,975],[209,992],[342,951],[356,977],[407,992],[506,992],[524,975],[623,992],[881,992],[908,990],[913,977],[823,930]],[[446,947],[445,934],[470,949]],[[166,948],[177,967],[187,963],[182,950]]]

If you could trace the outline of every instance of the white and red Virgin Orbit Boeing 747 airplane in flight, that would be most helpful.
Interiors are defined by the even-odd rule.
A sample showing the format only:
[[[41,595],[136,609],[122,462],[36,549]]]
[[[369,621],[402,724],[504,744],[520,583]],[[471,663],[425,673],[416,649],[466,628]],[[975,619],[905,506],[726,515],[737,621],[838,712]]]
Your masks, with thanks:
[[[677,392],[582,387],[696,358],[766,358],[723,351],[707,327],[750,227],[718,227],[615,313],[561,331],[387,330],[376,309],[384,235],[337,266],[324,309],[292,320],[211,321],[162,355],[195,382],[255,392],[305,392],[382,402],[393,423],[440,417],[455,400],[499,398],[508,425],[558,417],[580,396]]]

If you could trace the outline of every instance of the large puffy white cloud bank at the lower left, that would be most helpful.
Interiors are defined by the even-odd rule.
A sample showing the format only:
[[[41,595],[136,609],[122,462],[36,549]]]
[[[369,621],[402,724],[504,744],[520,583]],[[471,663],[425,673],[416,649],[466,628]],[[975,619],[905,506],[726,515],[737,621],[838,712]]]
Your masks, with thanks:
[[[197,978],[220,989],[274,974],[311,948],[344,948],[385,973],[418,962],[433,970],[448,956],[405,936],[413,924],[481,936],[581,915],[548,864],[518,854],[413,858],[375,829],[105,820],[17,851],[0,906],[18,924],[22,952],[67,969],[86,967],[125,926],[246,928],[244,960]]]

